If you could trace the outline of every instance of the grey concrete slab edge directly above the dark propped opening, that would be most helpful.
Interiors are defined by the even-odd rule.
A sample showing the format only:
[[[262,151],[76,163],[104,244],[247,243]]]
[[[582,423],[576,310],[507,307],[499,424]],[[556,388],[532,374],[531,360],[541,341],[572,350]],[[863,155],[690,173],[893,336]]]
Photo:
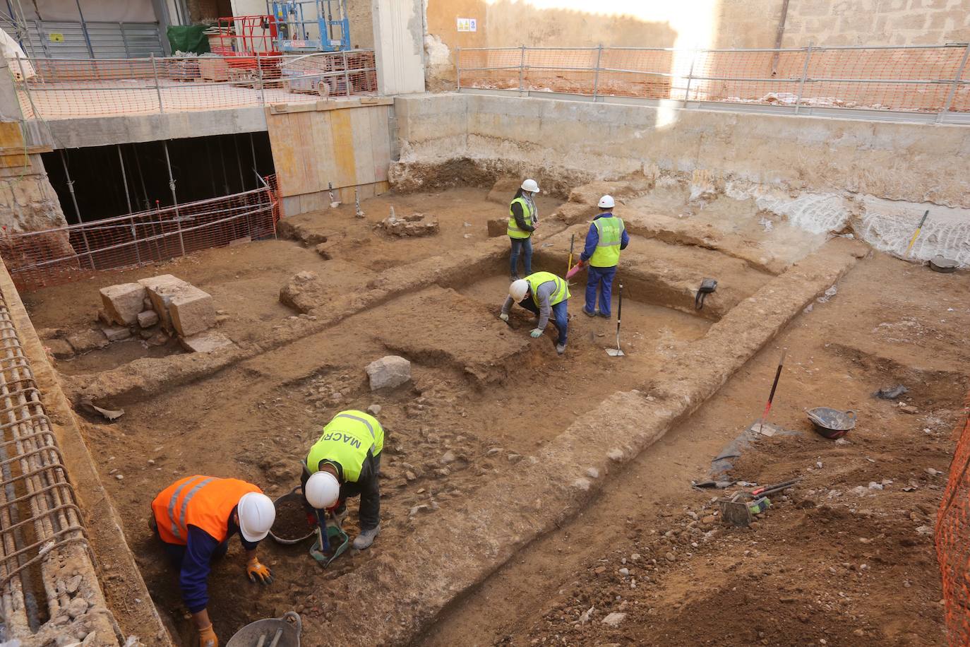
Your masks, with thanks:
[[[52,119],[47,123],[54,148],[82,148],[266,132],[266,113],[256,106],[194,113]]]

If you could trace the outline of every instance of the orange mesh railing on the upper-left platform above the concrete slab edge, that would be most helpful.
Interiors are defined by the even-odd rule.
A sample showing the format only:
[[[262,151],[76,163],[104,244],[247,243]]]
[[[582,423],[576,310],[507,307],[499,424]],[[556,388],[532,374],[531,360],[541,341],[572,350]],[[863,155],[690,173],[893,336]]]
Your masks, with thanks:
[[[373,94],[371,49],[303,56],[10,59],[28,119],[181,113]],[[19,69],[23,69],[23,74]],[[23,80],[26,78],[26,81]]]

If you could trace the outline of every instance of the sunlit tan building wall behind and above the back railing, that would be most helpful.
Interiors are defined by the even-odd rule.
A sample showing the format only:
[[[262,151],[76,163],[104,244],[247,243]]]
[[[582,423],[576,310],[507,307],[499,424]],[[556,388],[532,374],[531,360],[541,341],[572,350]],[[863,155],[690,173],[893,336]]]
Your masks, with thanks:
[[[428,88],[454,87],[458,47],[771,48],[782,2],[428,0]],[[477,31],[458,32],[458,17]],[[782,47],[954,41],[970,41],[967,0],[792,0]]]

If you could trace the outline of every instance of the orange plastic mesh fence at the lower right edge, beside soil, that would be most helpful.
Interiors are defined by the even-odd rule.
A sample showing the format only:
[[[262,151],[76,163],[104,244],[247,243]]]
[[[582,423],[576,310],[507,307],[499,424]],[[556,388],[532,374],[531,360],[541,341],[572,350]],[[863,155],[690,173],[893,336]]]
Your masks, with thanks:
[[[951,645],[970,644],[970,394],[955,430],[956,448],[936,515],[936,557],[943,578]]]

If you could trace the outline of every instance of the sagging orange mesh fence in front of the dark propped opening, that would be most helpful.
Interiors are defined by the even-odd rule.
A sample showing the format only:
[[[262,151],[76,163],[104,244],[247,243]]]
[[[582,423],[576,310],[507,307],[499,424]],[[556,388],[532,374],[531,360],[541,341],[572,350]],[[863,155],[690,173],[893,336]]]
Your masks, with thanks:
[[[159,207],[80,225],[0,237],[0,257],[17,289],[69,283],[235,242],[274,238],[275,177],[221,198]]]

